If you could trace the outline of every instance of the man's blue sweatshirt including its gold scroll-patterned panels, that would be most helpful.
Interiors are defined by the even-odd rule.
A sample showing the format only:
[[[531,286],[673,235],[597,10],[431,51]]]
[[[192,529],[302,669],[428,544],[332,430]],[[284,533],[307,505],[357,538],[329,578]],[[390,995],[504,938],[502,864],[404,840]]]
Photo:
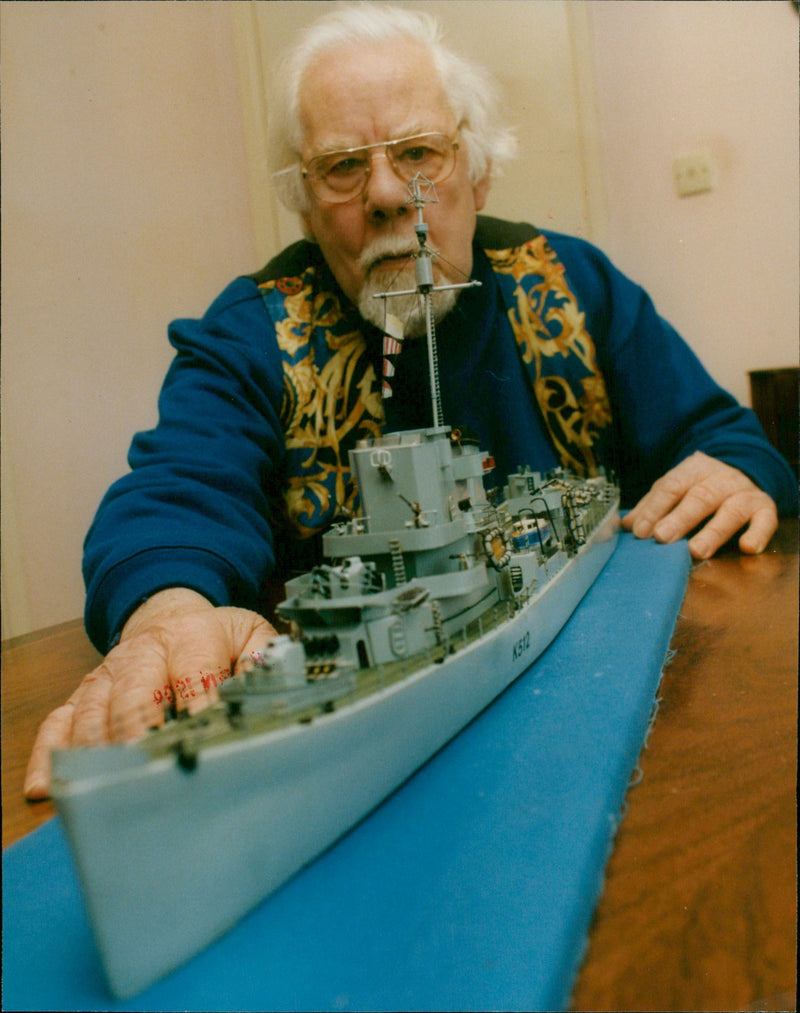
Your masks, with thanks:
[[[631,506],[700,450],[796,512],[794,475],[752,411],[595,247],[479,218],[473,278],[436,331],[443,413],[477,433],[497,484],[519,465],[605,465]],[[383,337],[312,243],[237,279],[169,339],[158,424],[135,437],[84,545],[101,651],[164,588],[263,610],[267,578],[315,561],[321,533],[357,508],[355,441],[430,420],[424,342],[404,342],[382,400]]]

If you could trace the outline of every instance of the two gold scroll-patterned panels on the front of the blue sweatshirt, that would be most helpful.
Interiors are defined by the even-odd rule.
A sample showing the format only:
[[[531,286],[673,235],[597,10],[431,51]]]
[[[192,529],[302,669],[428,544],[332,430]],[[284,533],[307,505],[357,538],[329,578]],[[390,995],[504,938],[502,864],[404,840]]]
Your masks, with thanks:
[[[544,237],[487,250],[550,438],[564,466],[596,470],[611,423],[606,384],[584,315]],[[354,310],[342,309],[319,268],[261,286],[284,364],[288,520],[301,538],[357,510],[347,452],[380,436],[380,385]]]

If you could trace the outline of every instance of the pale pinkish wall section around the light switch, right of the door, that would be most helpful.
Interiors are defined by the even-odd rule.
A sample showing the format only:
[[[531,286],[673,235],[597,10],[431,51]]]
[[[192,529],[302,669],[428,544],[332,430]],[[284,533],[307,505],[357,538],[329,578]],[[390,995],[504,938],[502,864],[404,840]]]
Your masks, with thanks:
[[[590,5],[607,252],[712,375],[798,362],[798,16],[783,0]],[[672,160],[709,148],[712,192]]]

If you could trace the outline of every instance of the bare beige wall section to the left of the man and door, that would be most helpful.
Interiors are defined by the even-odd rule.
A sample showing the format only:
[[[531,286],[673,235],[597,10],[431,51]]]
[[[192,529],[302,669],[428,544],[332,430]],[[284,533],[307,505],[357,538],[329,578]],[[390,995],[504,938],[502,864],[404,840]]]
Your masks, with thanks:
[[[6,636],[81,614],[83,536],[155,421],[166,321],[257,264],[227,4],[0,16]]]

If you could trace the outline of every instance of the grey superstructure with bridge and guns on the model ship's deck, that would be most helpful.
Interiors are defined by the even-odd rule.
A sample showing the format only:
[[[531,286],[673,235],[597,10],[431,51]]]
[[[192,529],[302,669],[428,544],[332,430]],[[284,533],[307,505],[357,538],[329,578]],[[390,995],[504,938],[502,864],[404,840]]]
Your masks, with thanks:
[[[615,487],[562,470],[521,469],[493,505],[484,477],[491,460],[448,427],[365,441],[351,454],[365,513],[324,538],[330,562],[287,585],[278,614],[292,623],[279,640],[282,671],[298,684],[321,675],[444,659],[460,644],[513,617],[585,544],[609,513]],[[242,682],[268,692],[274,655]]]

